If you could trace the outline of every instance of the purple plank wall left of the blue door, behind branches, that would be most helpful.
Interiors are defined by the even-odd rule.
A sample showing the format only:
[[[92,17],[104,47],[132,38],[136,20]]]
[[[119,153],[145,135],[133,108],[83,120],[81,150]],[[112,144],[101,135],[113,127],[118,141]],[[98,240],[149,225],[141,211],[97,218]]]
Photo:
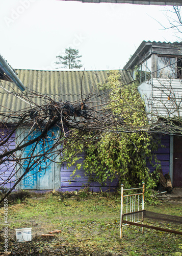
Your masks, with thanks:
[[[6,134],[9,131],[7,129],[3,129],[0,130],[0,134],[1,134],[1,139],[6,138]],[[12,135],[12,137],[9,139],[9,141],[7,142],[7,146],[9,150],[12,150],[15,148],[15,133]],[[4,150],[6,149],[5,146],[2,146],[0,148],[0,154],[2,154],[4,152]],[[12,188],[12,186],[15,183],[15,166],[14,166],[14,162],[13,161],[5,161],[1,166],[0,166],[0,187],[1,184],[8,180],[8,182],[6,183],[5,187],[7,188]]]

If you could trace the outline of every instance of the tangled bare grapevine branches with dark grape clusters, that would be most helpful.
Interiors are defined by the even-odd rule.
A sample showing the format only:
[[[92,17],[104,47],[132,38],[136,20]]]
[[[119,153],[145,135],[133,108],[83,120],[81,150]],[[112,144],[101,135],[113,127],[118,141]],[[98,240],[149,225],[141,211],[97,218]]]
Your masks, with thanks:
[[[15,179],[15,184],[7,195],[33,168],[41,162],[46,162],[46,158],[53,157],[51,161],[56,161],[59,156],[61,159],[64,150],[70,145],[78,140],[84,142],[84,135],[94,131],[114,132],[123,123],[122,118],[115,116],[112,109],[103,108],[105,104],[93,106],[91,96],[75,102],[58,101],[37,93],[19,97],[26,99],[30,107],[16,112],[9,110],[0,113],[0,166],[6,166],[7,169],[11,166],[9,177],[5,179],[5,172],[2,171],[3,167],[1,168],[0,189]],[[41,98],[42,105],[34,102],[37,97]],[[57,127],[57,134],[53,131],[54,127]],[[28,131],[27,135],[24,134],[25,130]],[[79,132],[72,136],[74,130]],[[19,132],[16,138],[13,136],[15,131]],[[71,139],[68,139],[69,137]],[[69,142],[65,143],[65,140]],[[38,144],[41,145],[41,150],[35,154]],[[64,147],[61,146],[63,144]],[[30,145],[31,150],[25,158],[23,152]],[[23,172],[19,176],[20,169],[23,169]]]

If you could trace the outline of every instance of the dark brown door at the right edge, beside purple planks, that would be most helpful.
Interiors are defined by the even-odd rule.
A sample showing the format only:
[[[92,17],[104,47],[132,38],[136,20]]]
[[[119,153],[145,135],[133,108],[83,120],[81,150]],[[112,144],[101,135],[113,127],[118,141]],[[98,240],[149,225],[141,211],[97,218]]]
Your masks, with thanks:
[[[173,138],[173,187],[182,187],[182,136]]]

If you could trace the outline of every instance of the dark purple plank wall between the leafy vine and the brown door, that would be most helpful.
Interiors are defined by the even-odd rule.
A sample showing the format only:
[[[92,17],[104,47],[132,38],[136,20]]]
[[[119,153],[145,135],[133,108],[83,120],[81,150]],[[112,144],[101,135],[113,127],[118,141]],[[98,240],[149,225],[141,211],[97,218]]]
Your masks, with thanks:
[[[169,159],[170,159],[170,135],[163,135],[161,138],[161,145],[165,147],[159,146],[158,151],[154,152],[157,155],[159,161],[161,161],[162,171],[163,174],[169,173]],[[152,161],[155,164],[154,161]],[[150,169],[151,172],[155,169],[148,161],[147,167]]]

